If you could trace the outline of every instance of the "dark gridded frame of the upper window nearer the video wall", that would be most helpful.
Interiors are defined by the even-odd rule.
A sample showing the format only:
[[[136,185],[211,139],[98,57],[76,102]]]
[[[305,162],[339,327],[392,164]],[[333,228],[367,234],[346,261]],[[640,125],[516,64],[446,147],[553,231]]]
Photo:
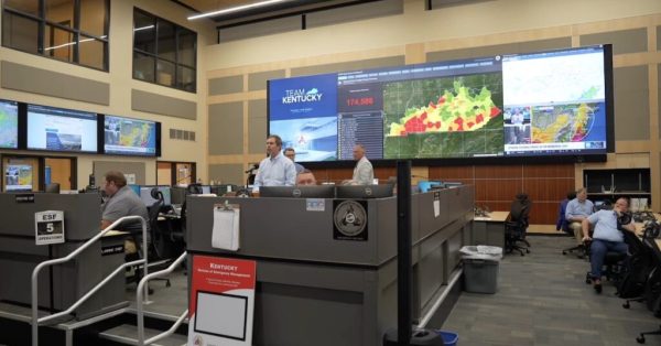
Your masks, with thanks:
[[[136,13],[140,13],[143,17],[148,17],[153,19],[153,23],[154,23],[154,33],[152,35],[153,40],[153,53],[152,52],[148,52],[148,51],[143,51],[141,48],[137,48],[136,47]],[[166,23],[172,25],[172,28],[174,29],[174,61],[170,60],[170,58],[164,58],[162,56],[159,55],[159,45],[160,45],[160,40],[159,40],[159,30],[160,30],[160,23]],[[186,93],[193,93],[193,94],[197,94],[197,32],[182,26],[177,23],[174,23],[172,21],[169,21],[166,19],[160,18],[155,14],[149,13],[140,8],[134,7],[133,8],[133,35],[132,35],[132,54],[131,54],[131,62],[133,64],[132,68],[131,68],[131,76],[134,80],[140,80],[140,82],[144,82],[144,83],[150,83],[150,84],[155,84],[159,86],[164,86],[164,87],[169,87],[169,88],[173,88],[173,89],[177,89],[177,90],[182,90],[182,91],[186,91]],[[191,66],[188,64],[184,64],[181,63],[181,55],[182,53],[180,52],[180,35],[181,34],[193,34],[195,36],[195,39],[193,40],[193,62],[194,62],[194,66]],[[152,67],[152,75],[153,78],[150,79],[141,79],[136,77],[136,55],[140,54],[141,56],[147,56],[147,57],[151,57],[153,60],[153,66]],[[172,75],[172,84],[167,85],[167,84],[162,84],[159,83],[159,62],[164,62],[167,64],[173,64],[174,65],[174,74]],[[185,68],[185,69],[192,69],[193,71],[193,88],[192,89],[187,89],[185,88],[183,85],[180,86],[180,68]]]

